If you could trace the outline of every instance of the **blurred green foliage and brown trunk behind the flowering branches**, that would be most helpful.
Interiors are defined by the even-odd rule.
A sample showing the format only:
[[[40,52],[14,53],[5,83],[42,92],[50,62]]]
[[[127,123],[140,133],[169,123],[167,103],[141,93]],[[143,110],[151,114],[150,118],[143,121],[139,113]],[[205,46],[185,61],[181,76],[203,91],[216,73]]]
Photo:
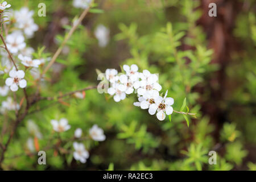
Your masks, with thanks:
[[[38,17],[41,1],[9,1],[13,9],[28,6],[35,11],[39,31],[28,40],[34,49],[46,47],[43,56],[55,52],[73,17],[81,9],[72,1],[44,1],[46,17]],[[86,170],[255,170],[256,163],[256,24],[255,1],[213,1],[217,17],[208,16],[209,1],[190,0],[99,0],[103,13],[89,13],[68,41],[66,49],[48,73],[42,96],[55,96],[96,85],[95,69],[121,71],[120,65],[137,64],[139,69],[159,73],[159,83],[173,97],[179,110],[187,98],[189,127],[181,114],[162,122],[133,106],[129,96],[114,102],[97,90],[86,91],[84,100],[68,98],[62,104],[42,101],[46,107],[29,115],[6,153],[5,169]],[[98,24],[110,30],[108,46],[101,48],[93,32]],[[4,81],[1,81],[3,84]],[[28,93],[35,92],[31,85]],[[22,94],[22,92],[18,93]],[[0,98],[1,101],[5,100]],[[53,103],[53,102],[52,102]],[[13,113],[9,113],[14,115]],[[32,119],[43,137],[39,146],[56,143],[51,119],[67,118],[73,137],[77,127],[88,134],[93,124],[104,129],[104,142],[84,142],[90,158],[77,163],[72,146],[63,151],[47,150],[47,165],[38,165],[37,155],[28,155],[27,130]],[[0,115],[1,121],[4,116]],[[3,127],[3,122],[0,122]],[[6,138],[3,137],[3,140]],[[217,164],[208,163],[209,151],[217,152]]]

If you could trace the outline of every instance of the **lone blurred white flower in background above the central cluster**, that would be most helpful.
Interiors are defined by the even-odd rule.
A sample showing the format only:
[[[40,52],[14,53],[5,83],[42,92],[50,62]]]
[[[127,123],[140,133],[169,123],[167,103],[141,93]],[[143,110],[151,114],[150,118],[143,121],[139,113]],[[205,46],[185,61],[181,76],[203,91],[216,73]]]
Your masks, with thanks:
[[[106,28],[104,25],[98,25],[94,31],[94,35],[98,39],[98,45],[100,47],[106,47],[109,43],[109,28]]]

